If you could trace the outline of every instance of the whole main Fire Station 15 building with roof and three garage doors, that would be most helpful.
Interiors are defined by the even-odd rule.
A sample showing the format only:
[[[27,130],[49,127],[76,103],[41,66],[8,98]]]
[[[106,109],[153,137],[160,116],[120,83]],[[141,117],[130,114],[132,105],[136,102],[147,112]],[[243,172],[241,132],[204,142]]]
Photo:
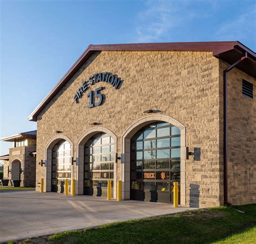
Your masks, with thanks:
[[[239,41],[90,45],[29,116],[36,182],[194,207],[256,202],[256,55]],[[12,149],[13,150],[21,149]],[[36,190],[40,185],[36,185]]]

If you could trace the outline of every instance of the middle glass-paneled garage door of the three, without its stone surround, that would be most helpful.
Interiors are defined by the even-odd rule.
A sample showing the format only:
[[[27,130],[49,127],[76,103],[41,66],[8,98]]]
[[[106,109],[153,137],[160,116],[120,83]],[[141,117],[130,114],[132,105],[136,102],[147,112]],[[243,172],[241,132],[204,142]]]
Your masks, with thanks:
[[[107,180],[111,180],[113,194],[113,178],[114,140],[98,133],[84,147],[84,194],[106,197]]]

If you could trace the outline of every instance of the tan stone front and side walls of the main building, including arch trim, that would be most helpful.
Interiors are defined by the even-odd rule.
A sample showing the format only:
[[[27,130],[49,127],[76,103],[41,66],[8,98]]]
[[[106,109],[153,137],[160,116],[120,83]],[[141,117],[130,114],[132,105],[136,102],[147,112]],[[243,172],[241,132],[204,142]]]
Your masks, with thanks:
[[[183,128],[183,149],[201,152],[195,161],[193,156],[186,159],[182,150],[181,204],[224,205],[223,70],[227,66],[212,52],[95,52],[37,117],[37,162],[43,160],[45,165],[36,165],[36,182],[51,177],[51,148],[60,138],[70,142],[71,155],[77,158],[72,178],[83,181],[79,150],[90,135],[104,131],[114,138],[115,152],[123,158],[117,162],[114,179],[122,180],[124,189],[126,184],[130,187],[129,172],[124,169],[130,161],[129,135],[142,124],[170,121]],[[73,95],[82,82],[100,72],[117,74],[124,81],[122,87],[116,90],[99,82],[92,88],[105,87],[102,106],[87,108],[86,95],[74,103]],[[256,86],[252,76],[237,68],[228,72],[228,201],[232,204],[256,201],[256,107],[255,99],[242,95],[242,79]],[[158,113],[143,113],[149,109]],[[100,125],[90,125],[93,122]],[[49,187],[44,189],[49,191]],[[77,193],[81,194],[79,187]]]

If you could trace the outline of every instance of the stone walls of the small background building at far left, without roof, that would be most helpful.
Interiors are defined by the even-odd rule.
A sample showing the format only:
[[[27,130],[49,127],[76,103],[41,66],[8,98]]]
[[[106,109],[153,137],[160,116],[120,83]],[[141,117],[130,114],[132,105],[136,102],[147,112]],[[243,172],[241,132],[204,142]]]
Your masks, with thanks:
[[[21,179],[21,186],[35,187],[36,185],[36,157],[30,155],[36,147],[23,146],[9,149],[9,161],[4,161],[4,179]],[[20,165],[19,165],[20,164]],[[8,166],[10,172],[8,173]],[[19,176],[19,166],[22,173]],[[11,184],[9,182],[9,184]]]

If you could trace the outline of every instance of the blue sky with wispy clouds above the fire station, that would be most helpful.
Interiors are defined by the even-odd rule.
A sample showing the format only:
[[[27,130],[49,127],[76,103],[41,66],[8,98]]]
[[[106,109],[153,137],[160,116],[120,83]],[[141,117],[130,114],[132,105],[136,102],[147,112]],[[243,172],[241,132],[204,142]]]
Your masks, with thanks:
[[[89,44],[239,40],[256,50],[256,1],[0,0],[0,138],[27,117]],[[11,143],[0,142],[0,155]]]

